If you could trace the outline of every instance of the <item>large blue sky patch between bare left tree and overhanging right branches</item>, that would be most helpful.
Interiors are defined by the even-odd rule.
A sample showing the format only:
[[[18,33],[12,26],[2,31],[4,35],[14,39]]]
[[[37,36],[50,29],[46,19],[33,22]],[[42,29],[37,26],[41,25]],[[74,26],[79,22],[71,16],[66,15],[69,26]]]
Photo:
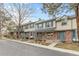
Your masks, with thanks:
[[[31,6],[32,6],[32,8],[35,9],[35,12],[32,14],[34,20],[38,20],[39,18],[44,19],[44,20],[49,19],[48,14],[45,14],[41,11],[42,4],[33,3],[33,4],[31,4]]]

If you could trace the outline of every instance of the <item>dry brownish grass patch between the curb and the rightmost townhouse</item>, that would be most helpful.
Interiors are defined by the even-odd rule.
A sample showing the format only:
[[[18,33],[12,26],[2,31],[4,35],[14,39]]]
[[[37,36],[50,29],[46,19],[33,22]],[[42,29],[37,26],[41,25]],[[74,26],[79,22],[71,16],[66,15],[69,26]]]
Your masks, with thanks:
[[[55,47],[79,51],[79,43],[59,43]]]

